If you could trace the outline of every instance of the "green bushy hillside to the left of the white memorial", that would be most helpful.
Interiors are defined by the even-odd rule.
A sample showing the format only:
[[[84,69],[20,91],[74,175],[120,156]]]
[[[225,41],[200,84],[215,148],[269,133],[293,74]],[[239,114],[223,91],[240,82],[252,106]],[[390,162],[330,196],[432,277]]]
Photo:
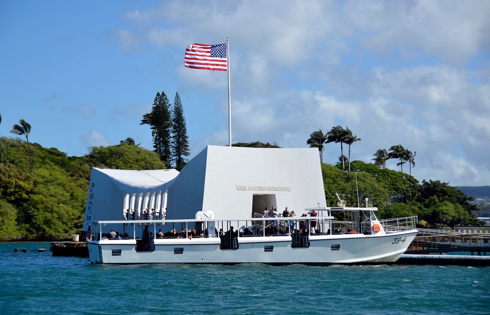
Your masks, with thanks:
[[[79,234],[83,224],[91,167],[163,169],[159,156],[121,144],[92,147],[83,157],[56,148],[0,137],[0,239],[56,240]]]

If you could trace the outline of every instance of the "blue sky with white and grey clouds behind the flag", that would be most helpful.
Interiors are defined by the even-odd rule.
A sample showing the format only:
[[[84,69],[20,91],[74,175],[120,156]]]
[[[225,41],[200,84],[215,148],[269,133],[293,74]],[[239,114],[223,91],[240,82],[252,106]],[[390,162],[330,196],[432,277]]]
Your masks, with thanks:
[[[228,73],[186,68],[184,53],[228,37],[232,143],[303,148],[341,125],[361,138],[352,160],[401,144],[417,180],[490,185],[489,12],[485,0],[0,1],[0,135],[25,119],[31,142],[68,156],[127,137],[152,150],[140,122],[164,91],[181,98],[189,158],[227,145]],[[340,155],[325,145],[324,162]]]

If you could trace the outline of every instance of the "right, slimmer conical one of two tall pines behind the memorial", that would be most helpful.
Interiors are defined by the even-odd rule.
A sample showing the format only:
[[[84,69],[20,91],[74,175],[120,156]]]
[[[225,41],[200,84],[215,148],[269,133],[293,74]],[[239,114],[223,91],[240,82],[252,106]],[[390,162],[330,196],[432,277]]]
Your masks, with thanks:
[[[175,99],[173,101],[171,146],[172,159],[175,161],[175,169],[180,171],[187,164],[188,159],[184,157],[188,157],[190,152],[184,108],[180,101],[179,93],[175,93]]]

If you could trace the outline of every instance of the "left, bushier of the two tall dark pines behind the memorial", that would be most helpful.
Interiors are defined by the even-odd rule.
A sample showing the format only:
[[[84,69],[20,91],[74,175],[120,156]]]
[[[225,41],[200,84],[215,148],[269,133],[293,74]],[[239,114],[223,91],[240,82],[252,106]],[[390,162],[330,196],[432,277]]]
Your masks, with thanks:
[[[156,93],[153,101],[151,112],[143,115],[140,125],[150,125],[153,135],[153,148],[160,155],[160,160],[165,162],[167,168],[171,167],[171,130],[172,130],[172,112],[170,102],[162,91]]]

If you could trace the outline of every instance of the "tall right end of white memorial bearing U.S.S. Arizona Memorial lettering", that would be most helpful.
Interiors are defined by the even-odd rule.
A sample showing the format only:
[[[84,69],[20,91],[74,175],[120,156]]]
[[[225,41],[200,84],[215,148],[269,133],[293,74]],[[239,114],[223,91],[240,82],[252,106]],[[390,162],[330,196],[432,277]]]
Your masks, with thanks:
[[[266,201],[253,205],[254,196]],[[318,149],[207,146],[169,187],[167,217],[211,210],[215,218],[248,218],[265,206],[303,213],[318,205],[326,206]]]

